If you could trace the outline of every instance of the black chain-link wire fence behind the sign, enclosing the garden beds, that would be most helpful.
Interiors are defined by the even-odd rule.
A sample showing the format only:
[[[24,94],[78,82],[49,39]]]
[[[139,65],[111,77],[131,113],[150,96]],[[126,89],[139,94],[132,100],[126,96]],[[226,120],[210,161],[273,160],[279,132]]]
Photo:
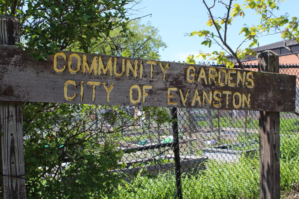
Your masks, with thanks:
[[[245,66],[245,69],[258,70],[257,66]],[[296,75],[299,88],[298,66],[282,65],[280,73]],[[298,95],[299,92],[297,111]],[[59,106],[62,104],[56,108]],[[69,106],[69,109],[76,108]],[[67,123],[64,130],[68,135],[79,132],[81,140],[90,140],[91,149],[96,145],[92,153],[104,151],[108,153],[106,158],[113,157],[113,161],[101,160],[89,168],[94,175],[101,173],[107,183],[97,185],[93,194],[85,193],[82,198],[259,198],[258,111],[86,105],[85,109],[80,106],[70,114],[72,119],[68,122],[52,121],[48,131],[38,127],[36,131],[44,137],[49,137],[48,132],[55,136]],[[299,183],[298,132],[299,117],[294,113],[280,113],[283,191]],[[26,139],[33,137],[28,135]],[[80,139],[78,147],[82,147]],[[67,153],[71,147],[68,141],[56,143],[60,144]],[[53,166],[51,173],[44,172],[42,178],[58,178],[63,174],[67,183],[61,184],[61,190],[71,192],[68,183],[86,174],[80,173],[82,168],[74,167],[76,159],[82,157],[86,156],[65,155],[64,161]],[[106,169],[99,169],[103,164],[108,164],[103,167]],[[72,170],[70,176],[68,169]],[[116,183],[111,183],[111,179]],[[98,189],[104,191],[97,195]]]

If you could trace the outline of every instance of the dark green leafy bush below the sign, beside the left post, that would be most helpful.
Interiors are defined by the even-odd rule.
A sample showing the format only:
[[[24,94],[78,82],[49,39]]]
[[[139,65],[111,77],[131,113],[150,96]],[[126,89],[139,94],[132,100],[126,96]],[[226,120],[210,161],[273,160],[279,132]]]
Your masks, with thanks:
[[[98,198],[114,191],[120,178],[109,170],[117,168],[122,157],[114,143],[120,127],[105,131],[96,127],[89,117],[95,108],[83,104],[24,105],[27,198]],[[127,117],[121,109],[114,110],[118,118]],[[106,113],[100,114],[103,123],[115,122],[107,120]]]

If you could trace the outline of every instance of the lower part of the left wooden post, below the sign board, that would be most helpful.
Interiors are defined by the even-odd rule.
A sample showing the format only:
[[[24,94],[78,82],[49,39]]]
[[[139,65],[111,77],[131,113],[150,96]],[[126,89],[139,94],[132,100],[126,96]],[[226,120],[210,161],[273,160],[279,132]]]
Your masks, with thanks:
[[[24,199],[24,148],[21,102],[0,102],[2,198]]]

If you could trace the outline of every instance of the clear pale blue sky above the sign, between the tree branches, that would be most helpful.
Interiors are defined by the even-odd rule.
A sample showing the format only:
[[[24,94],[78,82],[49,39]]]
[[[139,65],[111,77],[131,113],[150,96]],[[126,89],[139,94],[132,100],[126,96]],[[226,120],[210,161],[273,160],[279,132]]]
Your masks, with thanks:
[[[234,3],[243,4],[243,2],[243,0],[237,0]],[[298,0],[286,0],[280,5],[280,9],[276,14],[279,16],[288,12],[290,16],[298,17],[298,5]],[[185,33],[191,33],[195,30],[208,30],[206,26],[208,14],[201,0],[143,0],[135,6],[135,9],[139,8],[142,8],[140,12],[136,12],[137,14],[132,17],[152,14],[151,17],[142,18],[142,23],[145,24],[147,21],[150,21],[153,26],[159,29],[162,40],[168,45],[164,51],[161,49],[159,52],[162,61],[186,61],[186,57],[189,54],[196,56],[200,50],[209,53],[221,51],[221,47],[216,44],[212,45],[211,48],[201,45],[203,38],[197,35],[192,37],[184,36]],[[225,8],[216,7],[214,12],[218,13],[219,16],[224,16]],[[228,29],[227,38],[227,43],[232,49],[235,50],[244,39],[244,36],[239,35],[243,25],[258,25],[259,21],[259,16],[256,16],[254,12],[250,12],[248,9],[244,18],[234,21],[233,25]],[[267,35],[259,39],[259,44],[262,46],[280,40],[279,34]],[[243,49],[245,47],[247,46],[244,45]]]

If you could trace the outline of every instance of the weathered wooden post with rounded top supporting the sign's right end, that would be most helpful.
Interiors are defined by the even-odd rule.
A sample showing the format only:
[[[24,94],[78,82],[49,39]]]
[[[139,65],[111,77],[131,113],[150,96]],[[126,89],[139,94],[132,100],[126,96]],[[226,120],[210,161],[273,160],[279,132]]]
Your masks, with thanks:
[[[264,51],[258,59],[259,71],[279,73],[278,54]],[[274,103],[282,105],[280,100]],[[280,198],[279,119],[279,112],[259,112],[260,199]]]

